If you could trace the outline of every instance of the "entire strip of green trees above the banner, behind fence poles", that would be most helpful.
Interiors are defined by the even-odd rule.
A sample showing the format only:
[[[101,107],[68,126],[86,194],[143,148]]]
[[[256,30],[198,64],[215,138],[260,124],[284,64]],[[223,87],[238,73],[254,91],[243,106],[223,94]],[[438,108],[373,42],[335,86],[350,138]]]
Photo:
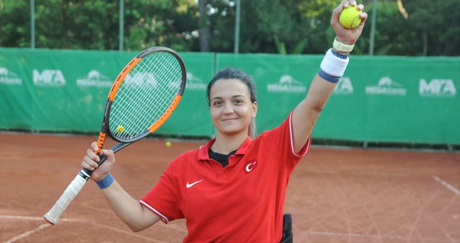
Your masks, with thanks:
[[[335,37],[332,9],[340,0],[241,0],[240,53],[321,54]],[[373,0],[358,1],[369,15],[354,54],[369,53]],[[460,55],[460,5],[454,0],[378,0],[375,55]],[[118,50],[120,1],[35,0],[38,48]],[[236,0],[206,0],[198,23],[195,0],[124,0],[124,50],[170,46],[200,50],[208,26],[212,52],[233,52]],[[31,45],[30,0],[0,0],[0,45]]]

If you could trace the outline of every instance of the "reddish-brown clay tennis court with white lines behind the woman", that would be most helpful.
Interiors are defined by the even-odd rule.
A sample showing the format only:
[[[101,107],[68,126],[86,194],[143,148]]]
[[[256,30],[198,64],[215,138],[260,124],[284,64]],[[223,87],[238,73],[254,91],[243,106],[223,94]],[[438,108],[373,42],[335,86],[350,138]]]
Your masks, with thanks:
[[[184,220],[133,233],[89,181],[54,226],[42,220],[96,136],[0,133],[1,242],[180,242]],[[144,139],[114,178],[135,199],[169,161],[205,141]],[[109,143],[105,148],[109,148]],[[460,242],[460,154],[314,147],[292,174],[294,242]]]

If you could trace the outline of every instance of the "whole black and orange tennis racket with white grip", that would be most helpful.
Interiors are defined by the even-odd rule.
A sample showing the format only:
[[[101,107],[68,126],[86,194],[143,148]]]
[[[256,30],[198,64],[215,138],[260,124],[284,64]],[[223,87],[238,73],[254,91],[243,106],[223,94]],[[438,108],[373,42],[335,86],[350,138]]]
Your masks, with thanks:
[[[106,135],[119,142],[117,152],[153,133],[176,109],[186,86],[187,72],[180,56],[167,47],[152,47],[134,57],[112,84],[98,138],[99,164]],[[83,168],[51,210],[43,216],[54,225],[93,171]]]

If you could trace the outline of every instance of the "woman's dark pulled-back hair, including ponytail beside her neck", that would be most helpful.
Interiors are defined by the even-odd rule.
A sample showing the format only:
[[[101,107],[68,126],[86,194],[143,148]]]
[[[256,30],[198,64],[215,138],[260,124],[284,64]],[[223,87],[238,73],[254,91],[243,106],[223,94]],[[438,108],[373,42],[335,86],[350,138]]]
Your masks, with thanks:
[[[208,100],[209,106],[211,106],[211,100],[209,96],[211,92],[211,88],[217,80],[221,80],[221,79],[240,80],[246,85],[247,91],[249,91],[249,94],[251,96],[251,102],[255,103],[257,101],[257,87],[256,87],[256,83],[254,82],[254,79],[252,79],[252,76],[246,74],[246,72],[244,72],[241,69],[224,68],[220,70],[219,72],[217,72],[217,74],[213,77],[213,79],[208,84],[208,89],[206,90],[206,100]],[[252,117],[251,123],[249,124],[247,135],[249,135],[252,139],[256,137],[256,120],[254,117]]]

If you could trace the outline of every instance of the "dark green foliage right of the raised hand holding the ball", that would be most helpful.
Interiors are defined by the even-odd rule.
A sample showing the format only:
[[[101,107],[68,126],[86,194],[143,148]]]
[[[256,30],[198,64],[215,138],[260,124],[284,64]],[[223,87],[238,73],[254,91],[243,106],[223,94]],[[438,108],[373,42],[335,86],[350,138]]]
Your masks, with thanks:
[[[407,19],[398,9],[396,0],[377,1],[376,55],[460,55],[460,5],[457,1],[403,0],[402,4]],[[366,5],[366,12],[369,17],[362,33],[364,38],[360,39],[370,36],[372,2]]]

